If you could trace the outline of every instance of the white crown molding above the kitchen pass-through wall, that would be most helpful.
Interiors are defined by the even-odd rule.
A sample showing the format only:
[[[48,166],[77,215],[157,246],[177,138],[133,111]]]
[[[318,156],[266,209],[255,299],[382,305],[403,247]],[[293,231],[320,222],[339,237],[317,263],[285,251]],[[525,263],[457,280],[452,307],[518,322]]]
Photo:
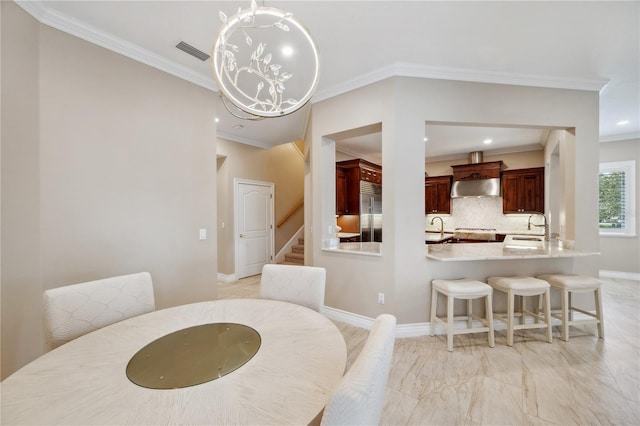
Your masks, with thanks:
[[[433,67],[399,62],[378,68],[345,83],[316,92],[313,97],[313,102],[320,102],[390,77],[419,77],[436,80],[457,80],[475,83],[509,84],[515,86],[587,90],[594,92],[602,91],[609,82],[609,80],[606,79],[580,79],[534,74],[514,74],[500,71]]]

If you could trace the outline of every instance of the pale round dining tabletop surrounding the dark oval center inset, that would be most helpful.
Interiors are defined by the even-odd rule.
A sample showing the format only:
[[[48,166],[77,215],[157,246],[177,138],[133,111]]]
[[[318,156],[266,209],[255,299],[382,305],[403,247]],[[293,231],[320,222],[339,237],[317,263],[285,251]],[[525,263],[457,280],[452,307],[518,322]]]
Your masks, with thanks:
[[[189,327],[235,323],[260,335],[255,355],[205,383],[150,389],[127,377],[149,343]],[[329,319],[303,306],[225,299],[130,318],[48,352],[6,378],[0,423],[308,424],[343,376],[347,350]]]

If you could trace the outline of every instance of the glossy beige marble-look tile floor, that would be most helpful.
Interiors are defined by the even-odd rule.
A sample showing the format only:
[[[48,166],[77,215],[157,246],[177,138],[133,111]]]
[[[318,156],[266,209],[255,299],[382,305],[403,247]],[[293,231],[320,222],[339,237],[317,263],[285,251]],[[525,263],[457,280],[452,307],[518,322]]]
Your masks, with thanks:
[[[219,298],[258,297],[260,276],[218,283]],[[603,280],[605,340],[595,325],[571,327],[570,341],[504,331],[396,339],[381,424],[640,425],[640,283]],[[347,368],[368,331],[336,323]]]

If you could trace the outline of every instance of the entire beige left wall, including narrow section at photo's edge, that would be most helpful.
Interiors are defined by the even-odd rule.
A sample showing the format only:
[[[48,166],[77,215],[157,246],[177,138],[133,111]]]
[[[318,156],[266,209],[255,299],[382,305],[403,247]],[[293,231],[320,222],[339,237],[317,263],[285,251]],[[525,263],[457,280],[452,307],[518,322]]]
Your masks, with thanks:
[[[216,96],[2,11],[5,377],[42,353],[44,289],[149,271],[159,308],[216,297]]]

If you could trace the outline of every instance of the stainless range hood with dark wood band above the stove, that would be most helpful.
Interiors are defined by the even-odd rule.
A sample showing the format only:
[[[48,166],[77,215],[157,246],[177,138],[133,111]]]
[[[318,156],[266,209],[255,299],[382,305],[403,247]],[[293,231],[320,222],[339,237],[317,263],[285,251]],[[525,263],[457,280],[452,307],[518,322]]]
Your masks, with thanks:
[[[482,162],[482,152],[472,152],[471,164],[452,166],[451,198],[499,197],[502,161]]]

